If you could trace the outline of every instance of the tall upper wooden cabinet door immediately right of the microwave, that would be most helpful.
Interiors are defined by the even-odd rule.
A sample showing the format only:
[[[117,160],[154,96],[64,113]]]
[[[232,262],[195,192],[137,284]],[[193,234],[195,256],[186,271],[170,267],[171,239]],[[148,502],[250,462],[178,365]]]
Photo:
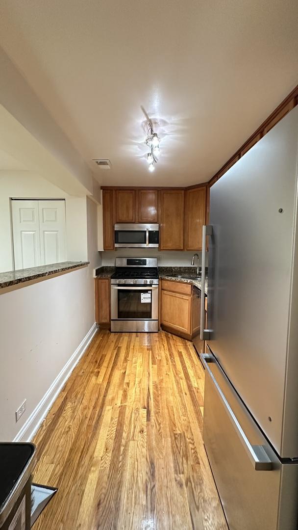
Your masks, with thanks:
[[[161,190],[160,250],[183,250],[184,190]]]

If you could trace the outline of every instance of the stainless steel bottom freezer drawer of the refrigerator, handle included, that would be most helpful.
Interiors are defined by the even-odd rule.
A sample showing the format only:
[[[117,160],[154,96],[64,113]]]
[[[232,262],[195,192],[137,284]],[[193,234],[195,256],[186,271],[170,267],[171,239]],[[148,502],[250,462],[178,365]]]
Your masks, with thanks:
[[[298,465],[279,460],[215,358],[204,363],[203,439],[230,530],[296,530]]]

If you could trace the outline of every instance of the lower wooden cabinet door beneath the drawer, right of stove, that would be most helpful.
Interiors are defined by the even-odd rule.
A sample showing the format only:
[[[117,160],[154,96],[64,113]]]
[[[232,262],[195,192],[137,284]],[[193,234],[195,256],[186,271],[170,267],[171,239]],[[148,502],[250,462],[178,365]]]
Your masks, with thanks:
[[[191,334],[192,297],[161,291],[161,324]]]

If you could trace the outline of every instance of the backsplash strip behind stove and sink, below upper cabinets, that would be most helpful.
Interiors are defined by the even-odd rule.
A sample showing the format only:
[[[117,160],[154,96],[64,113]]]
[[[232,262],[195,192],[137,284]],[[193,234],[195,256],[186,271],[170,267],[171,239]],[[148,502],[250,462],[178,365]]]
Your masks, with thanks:
[[[162,251],[155,249],[119,249],[101,252],[102,266],[111,267],[116,258],[157,258],[159,267],[190,267],[195,251]],[[197,252],[202,262],[202,252]],[[207,258],[207,257],[206,257]],[[206,259],[207,261],[207,259]],[[196,261],[195,261],[196,264]]]

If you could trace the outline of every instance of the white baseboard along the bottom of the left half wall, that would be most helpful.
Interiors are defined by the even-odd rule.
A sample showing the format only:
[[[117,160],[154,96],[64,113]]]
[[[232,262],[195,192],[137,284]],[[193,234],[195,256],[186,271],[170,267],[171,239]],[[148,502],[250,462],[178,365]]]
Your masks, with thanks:
[[[30,414],[28,420],[24,423],[22,429],[17,433],[13,441],[31,441],[35,432],[38,430],[41,422],[47,416],[49,409],[53,402],[56,400],[60,390],[65,385],[68,377],[70,376],[73,369],[78,364],[78,361],[84,354],[87,346],[93,339],[97,331],[97,325],[93,324],[92,328],[88,331],[86,337],[82,340],[76,351],[67,361],[66,365],[62,368],[60,374],[57,375],[55,381],[51,384],[49,390],[44,394],[39,404]]]

